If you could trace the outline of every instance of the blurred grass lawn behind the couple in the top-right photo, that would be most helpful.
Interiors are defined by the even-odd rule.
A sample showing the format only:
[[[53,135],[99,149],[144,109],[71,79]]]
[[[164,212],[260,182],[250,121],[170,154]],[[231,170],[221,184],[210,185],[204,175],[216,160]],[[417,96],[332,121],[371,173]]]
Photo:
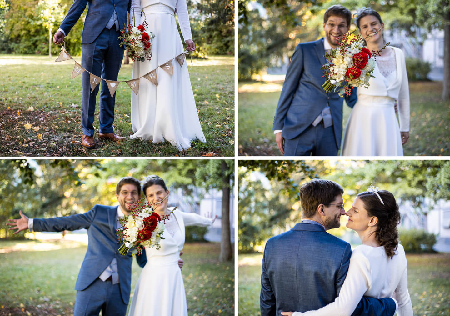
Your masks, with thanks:
[[[279,156],[272,123],[283,82],[241,82],[238,93],[240,156]],[[441,81],[410,83],[410,140],[405,156],[450,155],[450,102],[443,102]],[[351,108],[344,102],[345,129]]]

